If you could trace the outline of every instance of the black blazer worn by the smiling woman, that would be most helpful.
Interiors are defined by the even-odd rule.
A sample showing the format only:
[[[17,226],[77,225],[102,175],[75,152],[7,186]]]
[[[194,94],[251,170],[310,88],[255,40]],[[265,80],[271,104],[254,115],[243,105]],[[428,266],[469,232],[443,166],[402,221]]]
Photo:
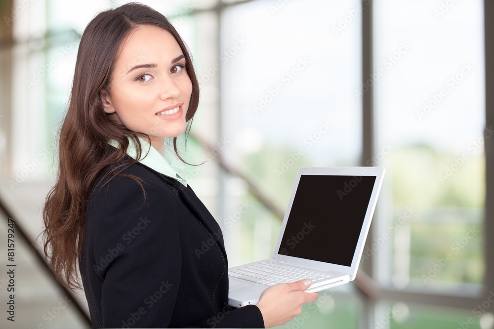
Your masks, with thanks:
[[[126,160],[131,160],[127,158]],[[135,163],[89,196],[80,259],[94,328],[264,328],[228,306],[217,222],[190,186]]]

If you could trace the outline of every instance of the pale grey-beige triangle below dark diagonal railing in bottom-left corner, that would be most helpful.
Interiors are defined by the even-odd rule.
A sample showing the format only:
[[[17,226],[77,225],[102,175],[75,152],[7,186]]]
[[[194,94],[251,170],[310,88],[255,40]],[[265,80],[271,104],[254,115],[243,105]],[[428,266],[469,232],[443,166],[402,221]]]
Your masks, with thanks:
[[[7,226],[7,217],[0,212],[0,252],[5,256],[3,273],[0,275],[0,302],[4,316],[0,320],[1,328],[87,328],[86,323],[74,308],[70,296],[61,294],[51,275],[39,265],[33,250],[19,235],[14,218],[13,226]],[[14,230],[12,261],[7,262],[7,229]],[[12,243],[9,241],[9,243]],[[15,265],[15,266],[7,266]],[[9,271],[13,271],[13,281]],[[12,273],[12,272],[10,272]],[[13,299],[10,298],[13,295]],[[13,301],[13,305],[11,304]],[[13,307],[14,313],[8,313]],[[14,322],[7,320],[13,315]]]

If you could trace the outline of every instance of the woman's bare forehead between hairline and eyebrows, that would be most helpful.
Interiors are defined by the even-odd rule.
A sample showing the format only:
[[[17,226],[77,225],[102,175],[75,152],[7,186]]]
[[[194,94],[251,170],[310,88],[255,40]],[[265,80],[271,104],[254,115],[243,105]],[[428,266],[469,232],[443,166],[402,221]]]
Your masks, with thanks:
[[[142,25],[134,29],[122,41],[116,67],[130,69],[139,64],[166,64],[182,55],[182,49],[175,38],[157,26]]]

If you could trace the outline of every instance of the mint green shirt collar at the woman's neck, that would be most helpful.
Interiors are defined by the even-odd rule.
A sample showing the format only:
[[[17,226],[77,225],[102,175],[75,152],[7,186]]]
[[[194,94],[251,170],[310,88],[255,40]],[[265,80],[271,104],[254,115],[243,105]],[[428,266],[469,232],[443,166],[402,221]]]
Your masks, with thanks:
[[[147,165],[151,169],[154,169],[167,177],[178,180],[184,186],[187,187],[187,180],[182,178],[180,174],[185,169],[185,164],[177,157],[175,151],[173,151],[168,145],[163,145],[163,156],[154,147],[141,137],[137,137],[141,143],[141,159],[137,159],[137,149],[132,139],[129,138],[129,145],[127,148],[127,155],[132,159],[139,161],[141,164]],[[110,140],[109,144],[118,147],[115,140]],[[149,152],[148,152],[149,151]]]

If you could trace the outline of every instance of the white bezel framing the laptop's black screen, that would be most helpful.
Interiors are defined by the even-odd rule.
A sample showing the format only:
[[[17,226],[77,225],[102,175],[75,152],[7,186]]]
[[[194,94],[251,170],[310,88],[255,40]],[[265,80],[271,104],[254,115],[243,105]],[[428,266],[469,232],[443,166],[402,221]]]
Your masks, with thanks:
[[[364,244],[369,234],[369,229],[371,227],[372,215],[375,210],[375,205],[377,202],[377,197],[381,189],[382,181],[384,178],[384,167],[300,167],[293,184],[292,193],[288,202],[287,211],[283,218],[283,223],[280,229],[280,235],[278,236],[278,241],[273,251],[273,257],[277,262],[289,263],[296,266],[313,268],[315,270],[326,271],[326,272],[341,272],[343,274],[348,274],[350,276],[350,281],[355,279],[357,270],[360,263],[360,258],[362,257],[362,252],[364,250]],[[365,214],[364,222],[362,224],[362,230],[359,235],[359,240],[355,248],[352,263],[350,266],[343,266],[337,264],[330,264],[321,261],[315,261],[310,259],[292,257],[284,254],[278,253],[280,249],[283,235],[285,233],[285,228],[288,222],[288,216],[293,205],[293,200],[295,199],[295,194],[300,182],[300,177],[302,175],[337,175],[337,176],[375,176],[374,186],[372,188],[371,197],[369,199],[369,204],[367,206],[367,211]]]

